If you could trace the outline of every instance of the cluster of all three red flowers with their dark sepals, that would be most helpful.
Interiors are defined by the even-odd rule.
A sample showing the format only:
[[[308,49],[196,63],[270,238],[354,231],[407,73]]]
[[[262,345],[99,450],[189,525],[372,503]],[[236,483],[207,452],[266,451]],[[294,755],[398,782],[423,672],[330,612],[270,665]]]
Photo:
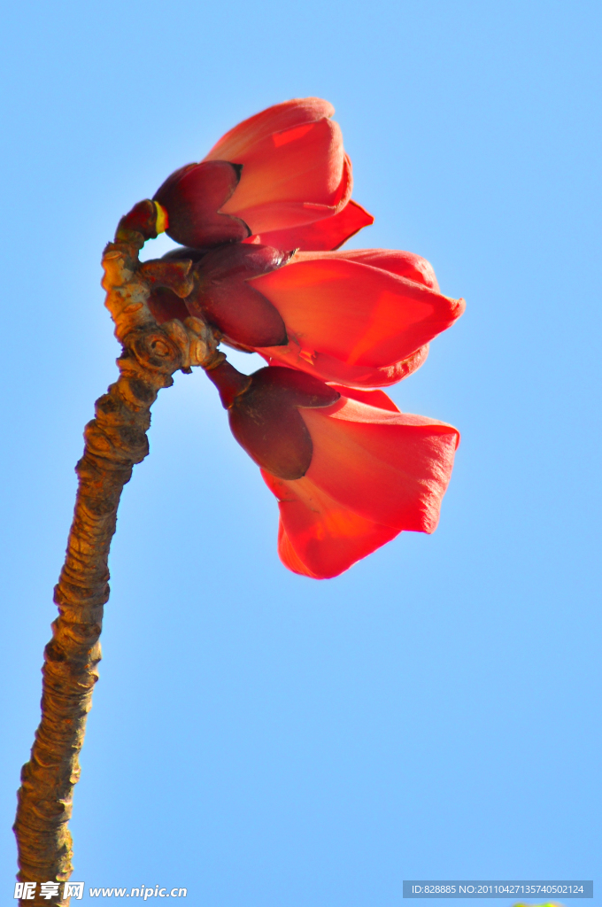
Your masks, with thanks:
[[[319,98],[277,104],[171,174],[154,201],[184,248],[166,258],[191,259],[195,286],[150,297],[159,321],[202,317],[267,360],[208,375],[278,498],[281,560],[318,579],[402,530],[436,528],[459,434],[368,388],[421,366],[464,307],[417,255],[335,251],[373,218],[351,200],[333,112]]]

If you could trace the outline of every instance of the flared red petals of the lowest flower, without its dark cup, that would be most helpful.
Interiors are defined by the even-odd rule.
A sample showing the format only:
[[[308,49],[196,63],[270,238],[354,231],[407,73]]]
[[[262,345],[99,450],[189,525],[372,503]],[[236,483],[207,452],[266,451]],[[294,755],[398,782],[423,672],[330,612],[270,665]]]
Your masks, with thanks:
[[[313,443],[306,474],[262,471],[279,502],[280,558],[315,579],[337,576],[404,529],[432,532],[459,438],[451,425],[400,413],[383,391],[340,391],[350,395],[299,411]]]

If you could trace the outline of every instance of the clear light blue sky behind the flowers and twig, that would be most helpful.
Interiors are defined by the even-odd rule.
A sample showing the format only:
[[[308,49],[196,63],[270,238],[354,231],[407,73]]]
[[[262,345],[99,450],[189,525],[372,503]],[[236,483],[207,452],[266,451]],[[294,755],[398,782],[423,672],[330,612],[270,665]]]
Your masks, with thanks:
[[[73,879],[199,907],[599,880],[601,19],[593,0],[5,2],[3,902],[73,466],[116,375],[102,247],[236,122],[311,94],[376,218],[352,245],[418,252],[467,299],[392,392],[461,430],[441,523],[336,580],[287,572],[215,388],[178,375],[121,502]]]

